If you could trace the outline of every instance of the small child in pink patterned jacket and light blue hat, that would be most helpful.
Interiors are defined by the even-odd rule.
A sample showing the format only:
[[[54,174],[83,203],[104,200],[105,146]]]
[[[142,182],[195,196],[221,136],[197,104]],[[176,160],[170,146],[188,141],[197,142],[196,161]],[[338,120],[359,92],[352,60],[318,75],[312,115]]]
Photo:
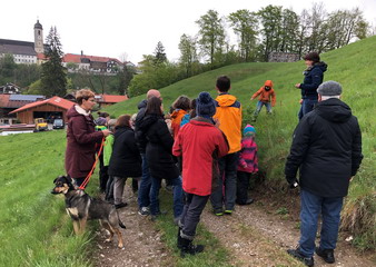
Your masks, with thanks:
[[[258,171],[257,144],[255,141],[256,130],[247,125],[243,130],[241,150],[237,170],[236,204],[249,205],[254,199],[248,198],[249,180],[251,175]]]

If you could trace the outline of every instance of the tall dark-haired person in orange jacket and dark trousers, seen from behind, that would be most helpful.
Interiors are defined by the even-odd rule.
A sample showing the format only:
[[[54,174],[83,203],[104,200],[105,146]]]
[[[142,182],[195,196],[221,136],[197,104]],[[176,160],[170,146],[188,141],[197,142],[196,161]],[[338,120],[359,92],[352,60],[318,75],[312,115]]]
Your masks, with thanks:
[[[217,79],[216,89],[219,96],[216,98],[217,110],[212,118],[218,120],[219,129],[226,135],[230,149],[219,160],[221,186],[210,197],[216,216],[222,216],[224,212],[231,215],[236,200],[236,167],[241,148],[241,105],[235,96],[228,93],[230,88],[231,82],[227,76]]]

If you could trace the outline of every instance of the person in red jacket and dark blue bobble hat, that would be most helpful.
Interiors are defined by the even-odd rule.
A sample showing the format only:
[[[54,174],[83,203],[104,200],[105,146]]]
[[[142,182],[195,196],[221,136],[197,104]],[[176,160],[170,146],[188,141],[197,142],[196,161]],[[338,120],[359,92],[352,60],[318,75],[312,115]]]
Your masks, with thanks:
[[[204,246],[194,245],[192,240],[200,215],[215,189],[212,185],[221,187],[218,158],[226,156],[229,149],[225,135],[211,118],[216,113],[216,102],[208,92],[201,92],[196,99],[196,111],[197,117],[180,128],[172,147],[172,154],[182,157],[185,206],[177,239],[181,256],[204,250]]]

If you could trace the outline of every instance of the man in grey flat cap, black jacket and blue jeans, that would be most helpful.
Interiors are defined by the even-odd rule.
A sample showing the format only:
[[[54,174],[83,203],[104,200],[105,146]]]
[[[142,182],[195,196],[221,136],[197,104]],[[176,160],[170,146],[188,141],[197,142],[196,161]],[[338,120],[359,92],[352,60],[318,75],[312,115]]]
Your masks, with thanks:
[[[343,198],[363,159],[360,128],[350,108],[339,100],[342,86],[326,81],[317,93],[316,108],[295,129],[285,167],[290,188],[300,186],[300,240],[287,253],[306,266],[314,266],[315,250],[326,263],[335,263]],[[323,225],[315,248],[319,215]]]

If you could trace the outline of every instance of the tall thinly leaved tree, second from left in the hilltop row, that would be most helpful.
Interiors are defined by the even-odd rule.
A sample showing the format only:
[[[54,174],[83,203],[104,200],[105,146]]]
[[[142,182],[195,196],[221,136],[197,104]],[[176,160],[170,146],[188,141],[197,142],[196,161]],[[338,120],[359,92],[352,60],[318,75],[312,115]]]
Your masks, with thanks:
[[[215,55],[221,53],[225,44],[225,27],[222,19],[219,18],[218,12],[209,10],[196,21],[199,26],[198,43],[201,48],[202,56],[209,57],[211,69],[215,67]]]

